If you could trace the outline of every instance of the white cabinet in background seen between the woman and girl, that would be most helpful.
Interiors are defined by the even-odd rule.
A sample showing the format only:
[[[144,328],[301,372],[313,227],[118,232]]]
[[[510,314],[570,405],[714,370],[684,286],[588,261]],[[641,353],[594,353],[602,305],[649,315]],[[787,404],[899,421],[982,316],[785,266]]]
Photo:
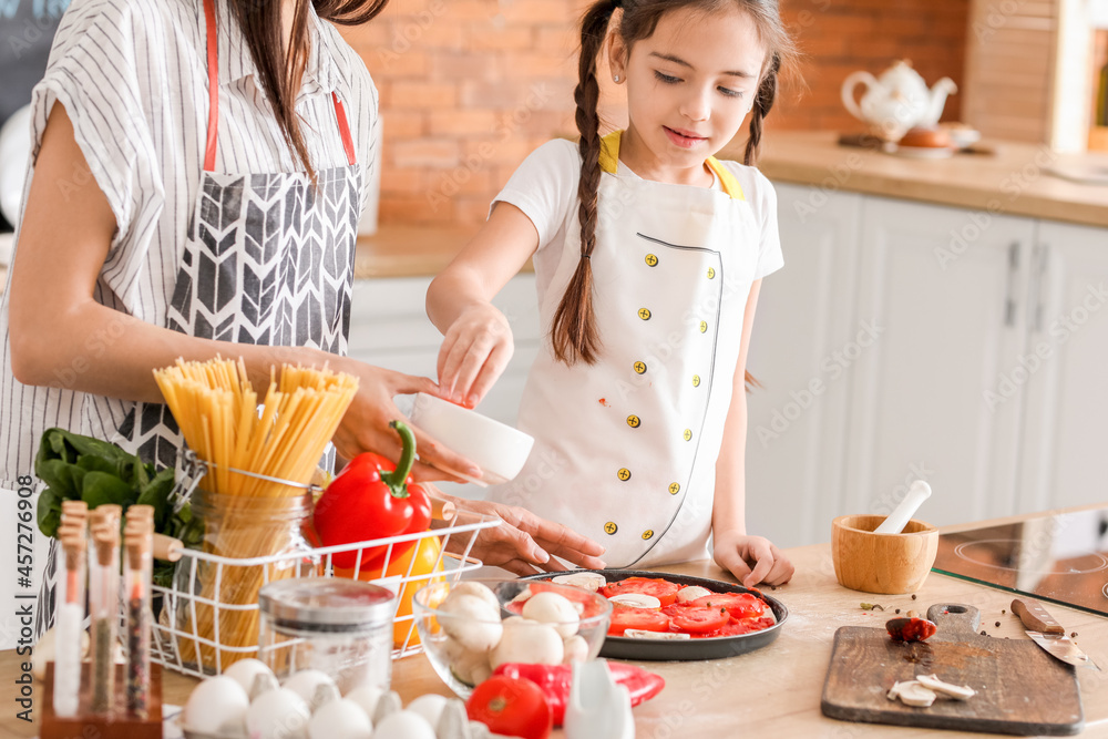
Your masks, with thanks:
[[[408,374],[438,378],[442,335],[427,317],[431,277],[366,279],[355,284],[350,320],[350,356]],[[515,353],[500,380],[478,407],[485,415],[515,425],[523,386],[540,346],[535,278],[513,278],[493,304],[507,317]],[[479,496],[474,485],[441,485],[448,492]]]

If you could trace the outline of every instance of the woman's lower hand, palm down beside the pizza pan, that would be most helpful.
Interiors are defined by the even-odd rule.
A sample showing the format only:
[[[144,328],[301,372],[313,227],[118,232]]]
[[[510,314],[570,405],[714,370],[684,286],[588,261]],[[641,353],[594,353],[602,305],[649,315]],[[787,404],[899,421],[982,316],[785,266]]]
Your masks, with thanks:
[[[540,519],[526,509],[502,505],[491,501],[471,501],[447,495],[438,490],[432,495],[452,502],[458,507],[454,524],[472,523],[481,515],[496,516],[504,523],[478,532],[478,540],[470,556],[482,563],[503,567],[516,575],[533,575],[536,571],[564,572],[566,566],[554,557],[586,569],[604,569],[599,560],[604,547],[585,538],[568,526]],[[460,534],[450,537],[447,550],[462,554],[470,537]]]

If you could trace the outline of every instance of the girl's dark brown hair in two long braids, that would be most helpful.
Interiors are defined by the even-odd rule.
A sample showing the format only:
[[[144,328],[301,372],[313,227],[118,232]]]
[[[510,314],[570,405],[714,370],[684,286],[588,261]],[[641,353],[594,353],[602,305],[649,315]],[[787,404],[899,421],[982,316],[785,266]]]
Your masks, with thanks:
[[[577,197],[581,201],[581,259],[570,279],[562,302],[554,314],[551,338],[554,356],[558,361],[574,365],[579,360],[592,365],[597,359],[601,338],[593,311],[593,270],[591,258],[596,248],[597,192],[601,183],[601,132],[596,113],[601,95],[596,78],[597,58],[607,37],[608,23],[617,9],[623,10],[616,33],[628,49],[654,34],[661,17],[673,10],[693,8],[706,13],[738,8],[747,12],[762,42],[767,59],[758,92],[755,94],[750,116],[745,164],[753,164],[761,143],[762,121],[773,107],[777,96],[777,76],[782,60],[794,57],[796,51],[781,16],[777,0],[598,0],[581,22],[581,60],[578,82],[574,91],[577,103],[576,122],[581,132],[581,181]],[[753,378],[747,374],[747,381]]]

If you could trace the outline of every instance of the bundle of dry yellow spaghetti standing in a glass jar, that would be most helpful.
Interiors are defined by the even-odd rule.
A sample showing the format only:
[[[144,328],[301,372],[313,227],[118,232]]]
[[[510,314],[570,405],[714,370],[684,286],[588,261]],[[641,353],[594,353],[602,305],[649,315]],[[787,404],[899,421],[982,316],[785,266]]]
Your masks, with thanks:
[[[177,360],[157,381],[188,447],[211,463],[193,512],[204,520],[204,551],[233,560],[290,554],[268,565],[192,563],[177,566],[178,626],[197,639],[178,644],[183,659],[208,673],[253,656],[261,585],[297,577],[307,545],[299,527],[310,513],[307,484],[342,420],[358,380],[327,368],[285,366],[258,402],[238,362]],[[279,480],[264,480],[243,472]],[[230,647],[230,651],[214,646]],[[247,651],[244,651],[247,649]]]

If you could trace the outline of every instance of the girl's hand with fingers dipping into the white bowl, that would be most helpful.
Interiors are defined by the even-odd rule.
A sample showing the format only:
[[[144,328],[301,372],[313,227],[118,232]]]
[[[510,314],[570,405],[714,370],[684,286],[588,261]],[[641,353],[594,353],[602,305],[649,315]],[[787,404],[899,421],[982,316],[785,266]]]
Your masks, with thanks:
[[[451,324],[439,350],[442,397],[474,408],[503,373],[515,345],[507,318],[490,302],[465,308]]]

